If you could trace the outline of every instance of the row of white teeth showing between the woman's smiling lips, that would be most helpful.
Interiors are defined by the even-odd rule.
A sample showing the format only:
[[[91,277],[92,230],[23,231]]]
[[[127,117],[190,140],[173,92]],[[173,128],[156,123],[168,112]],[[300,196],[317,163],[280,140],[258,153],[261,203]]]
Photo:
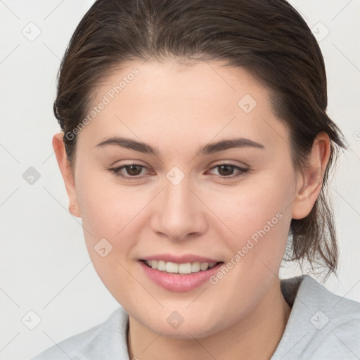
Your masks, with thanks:
[[[178,264],[176,262],[165,262],[164,260],[141,260],[146,266],[151,269],[165,272],[167,274],[180,274],[188,275],[193,273],[199,273],[200,271],[207,271],[212,269],[214,266],[222,262],[184,262]]]

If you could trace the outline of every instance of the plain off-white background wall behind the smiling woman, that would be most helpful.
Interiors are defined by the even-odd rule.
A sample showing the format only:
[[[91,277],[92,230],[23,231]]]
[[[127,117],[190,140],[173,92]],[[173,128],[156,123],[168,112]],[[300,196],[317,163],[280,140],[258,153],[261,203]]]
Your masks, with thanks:
[[[68,198],[51,139],[56,75],[93,0],[0,0],[0,359],[29,359],[104,321],[119,304],[98,278]],[[349,143],[330,183],[340,243],[339,278],[326,288],[360,301],[360,1],[293,0],[319,39],[328,113]],[[23,174],[34,174],[28,184]],[[39,177],[39,179],[37,179]],[[299,274],[297,266],[281,277]],[[34,311],[37,315],[35,315]],[[36,325],[37,318],[41,319]]]

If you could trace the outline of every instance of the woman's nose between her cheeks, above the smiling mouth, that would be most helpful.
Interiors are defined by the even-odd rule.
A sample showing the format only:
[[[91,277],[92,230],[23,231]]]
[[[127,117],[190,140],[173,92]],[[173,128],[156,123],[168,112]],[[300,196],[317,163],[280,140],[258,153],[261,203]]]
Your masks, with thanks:
[[[151,219],[151,228],[158,235],[170,240],[186,240],[206,231],[206,207],[189,185],[186,177],[176,185],[165,181]]]

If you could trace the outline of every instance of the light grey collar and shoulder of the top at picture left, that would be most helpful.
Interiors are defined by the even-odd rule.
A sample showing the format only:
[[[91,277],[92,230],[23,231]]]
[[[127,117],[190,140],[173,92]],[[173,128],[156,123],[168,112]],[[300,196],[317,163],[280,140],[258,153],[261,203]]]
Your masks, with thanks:
[[[91,359],[127,359],[128,315],[122,307],[98,326],[72,336],[32,360],[91,360]]]

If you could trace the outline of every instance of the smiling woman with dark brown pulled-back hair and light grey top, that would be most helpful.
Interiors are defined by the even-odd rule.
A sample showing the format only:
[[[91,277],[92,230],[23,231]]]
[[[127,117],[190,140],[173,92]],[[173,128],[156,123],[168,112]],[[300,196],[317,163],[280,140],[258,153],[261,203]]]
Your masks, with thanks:
[[[96,1],[61,64],[53,147],[121,307],[34,359],[359,356],[359,303],[278,278],[287,255],[337,267],[325,189],[345,142],[326,107],[285,0]]]

